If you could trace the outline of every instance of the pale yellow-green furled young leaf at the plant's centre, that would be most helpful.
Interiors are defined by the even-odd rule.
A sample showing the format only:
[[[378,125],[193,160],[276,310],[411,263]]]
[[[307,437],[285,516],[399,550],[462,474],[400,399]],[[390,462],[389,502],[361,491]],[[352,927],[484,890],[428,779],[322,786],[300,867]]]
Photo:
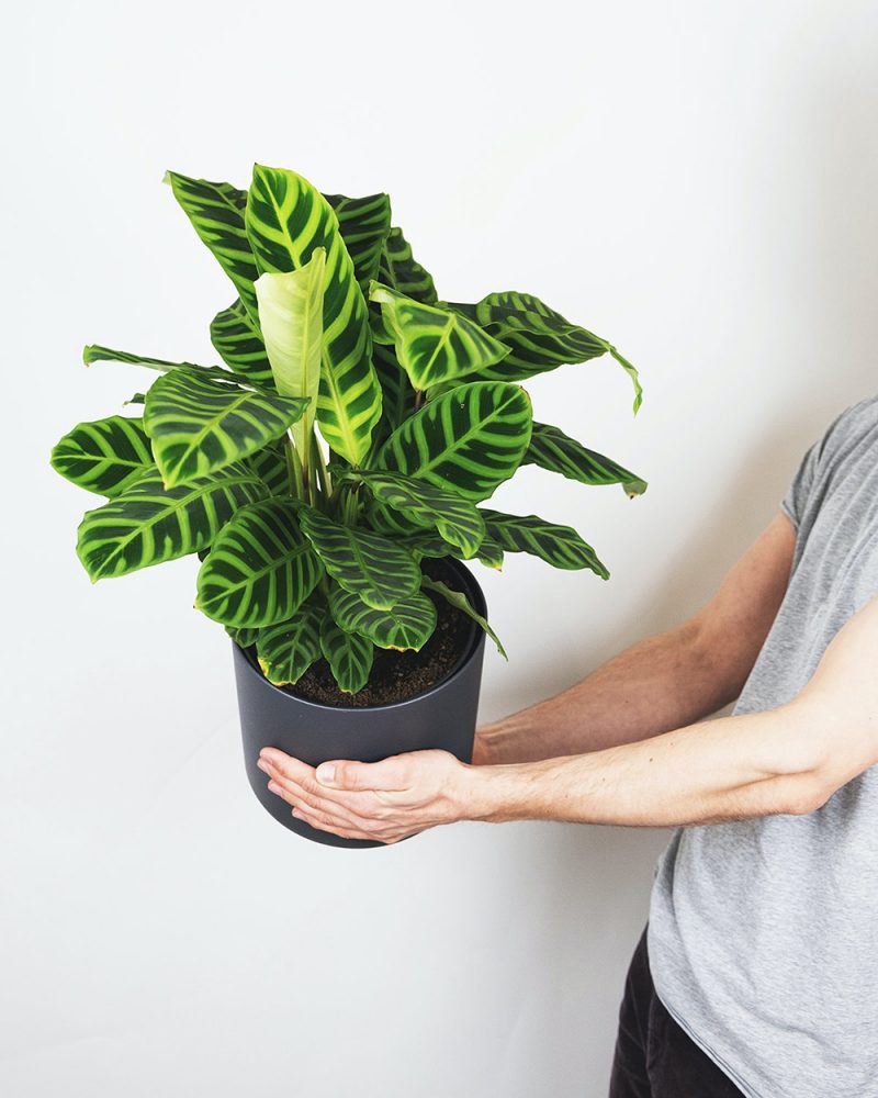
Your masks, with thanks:
[[[293,441],[305,464],[320,385],[325,272],[326,249],[315,248],[299,270],[267,271],[256,282],[259,323],[274,385],[281,396],[308,402],[293,427]]]

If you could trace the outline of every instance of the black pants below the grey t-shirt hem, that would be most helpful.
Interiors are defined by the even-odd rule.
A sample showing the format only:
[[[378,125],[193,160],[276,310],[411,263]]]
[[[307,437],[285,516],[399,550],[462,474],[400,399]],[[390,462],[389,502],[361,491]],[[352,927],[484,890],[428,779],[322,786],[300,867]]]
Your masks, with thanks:
[[[624,982],[610,1098],[743,1098],[655,994],[645,930]]]

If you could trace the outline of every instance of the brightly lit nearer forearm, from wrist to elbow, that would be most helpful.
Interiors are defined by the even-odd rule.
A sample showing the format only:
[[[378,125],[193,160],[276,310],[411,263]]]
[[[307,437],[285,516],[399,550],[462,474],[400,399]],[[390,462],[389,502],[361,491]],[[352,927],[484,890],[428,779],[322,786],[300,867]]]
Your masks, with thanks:
[[[667,827],[812,811],[831,789],[819,721],[790,703],[585,755],[464,769],[465,818]]]

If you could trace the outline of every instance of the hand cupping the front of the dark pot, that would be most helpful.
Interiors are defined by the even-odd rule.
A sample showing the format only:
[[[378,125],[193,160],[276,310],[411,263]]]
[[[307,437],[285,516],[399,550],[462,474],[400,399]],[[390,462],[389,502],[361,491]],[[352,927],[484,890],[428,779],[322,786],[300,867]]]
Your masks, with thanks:
[[[471,768],[448,751],[409,751],[373,763],[334,760],[315,770],[278,748],[262,748],[257,765],[296,819],[346,839],[393,843],[470,818]]]

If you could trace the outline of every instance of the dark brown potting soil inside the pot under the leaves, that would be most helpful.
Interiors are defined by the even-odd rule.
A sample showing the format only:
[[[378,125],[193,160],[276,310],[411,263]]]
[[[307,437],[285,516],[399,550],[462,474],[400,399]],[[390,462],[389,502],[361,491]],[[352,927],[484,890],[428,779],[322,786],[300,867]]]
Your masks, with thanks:
[[[423,561],[424,571],[449,587],[461,590],[457,576],[441,569],[438,562]],[[395,652],[375,648],[369,682],[356,694],[345,694],[339,688],[326,660],[318,660],[291,686],[281,690],[306,702],[342,708],[365,708],[393,705],[423,694],[446,679],[463,658],[469,648],[473,629],[479,629],[470,617],[451,606],[441,595],[424,592],[436,605],[436,631],[419,652]]]

